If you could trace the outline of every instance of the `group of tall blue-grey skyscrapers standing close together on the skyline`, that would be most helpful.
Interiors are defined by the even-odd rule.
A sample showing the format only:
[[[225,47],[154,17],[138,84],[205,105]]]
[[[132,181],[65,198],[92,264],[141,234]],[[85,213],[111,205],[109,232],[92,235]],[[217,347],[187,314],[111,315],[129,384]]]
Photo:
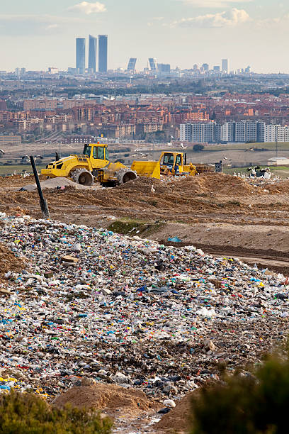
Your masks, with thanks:
[[[86,65],[85,38],[77,38],[76,67],[77,74],[84,74]],[[89,35],[89,72],[96,72],[96,60],[98,60],[98,72],[108,71],[108,35],[98,35],[98,38]]]

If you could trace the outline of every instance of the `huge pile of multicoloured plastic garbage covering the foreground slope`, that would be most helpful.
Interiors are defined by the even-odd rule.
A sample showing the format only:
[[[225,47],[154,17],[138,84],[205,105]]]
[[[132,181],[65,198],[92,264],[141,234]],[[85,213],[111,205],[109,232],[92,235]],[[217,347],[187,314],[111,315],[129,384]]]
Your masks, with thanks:
[[[56,396],[88,378],[168,398],[258,360],[288,329],[288,279],[233,258],[0,214],[23,260],[0,299],[0,389]]]

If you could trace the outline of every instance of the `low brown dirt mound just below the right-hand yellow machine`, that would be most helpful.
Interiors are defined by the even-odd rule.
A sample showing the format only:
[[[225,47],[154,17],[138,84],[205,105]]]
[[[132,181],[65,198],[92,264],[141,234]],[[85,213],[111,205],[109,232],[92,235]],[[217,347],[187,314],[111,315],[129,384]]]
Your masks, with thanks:
[[[226,194],[244,196],[259,192],[248,181],[224,173],[205,173],[198,177],[184,177],[174,184],[176,191],[188,191],[191,194]]]

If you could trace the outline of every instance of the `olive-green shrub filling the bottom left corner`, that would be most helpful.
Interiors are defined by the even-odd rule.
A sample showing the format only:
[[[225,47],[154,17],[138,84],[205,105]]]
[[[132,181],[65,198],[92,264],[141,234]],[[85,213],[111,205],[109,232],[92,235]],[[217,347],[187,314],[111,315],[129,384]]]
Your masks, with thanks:
[[[34,394],[0,396],[0,434],[108,434],[111,426],[94,411],[55,408]]]

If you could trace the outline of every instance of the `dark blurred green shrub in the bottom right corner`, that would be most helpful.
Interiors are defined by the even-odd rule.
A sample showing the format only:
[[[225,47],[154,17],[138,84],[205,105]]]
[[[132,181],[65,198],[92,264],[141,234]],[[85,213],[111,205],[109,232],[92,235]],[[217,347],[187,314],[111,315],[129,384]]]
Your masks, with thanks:
[[[226,377],[192,403],[191,434],[287,434],[289,362],[269,358],[253,375]]]

